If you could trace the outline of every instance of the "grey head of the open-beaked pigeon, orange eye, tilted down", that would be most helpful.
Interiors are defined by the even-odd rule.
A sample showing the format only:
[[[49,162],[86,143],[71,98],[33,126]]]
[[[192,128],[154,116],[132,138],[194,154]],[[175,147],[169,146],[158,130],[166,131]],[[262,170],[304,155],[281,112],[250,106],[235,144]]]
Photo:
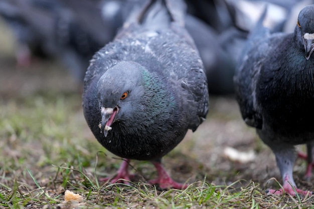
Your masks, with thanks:
[[[109,68],[97,83],[97,97],[101,113],[101,132],[106,137],[112,124],[131,121],[140,111],[138,100],[143,96],[143,72],[147,70],[135,62],[120,62]]]

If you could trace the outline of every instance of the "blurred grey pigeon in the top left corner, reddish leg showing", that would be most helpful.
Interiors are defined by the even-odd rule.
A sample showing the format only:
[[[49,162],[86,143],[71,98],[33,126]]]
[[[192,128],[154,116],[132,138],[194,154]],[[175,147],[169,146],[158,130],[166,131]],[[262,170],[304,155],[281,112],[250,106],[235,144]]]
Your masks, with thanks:
[[[57,7],[58,1],[0,1],[0,17],[17,40],[19,66],[29,66],[32,56],[51,57],[57,50],[52,36]]]

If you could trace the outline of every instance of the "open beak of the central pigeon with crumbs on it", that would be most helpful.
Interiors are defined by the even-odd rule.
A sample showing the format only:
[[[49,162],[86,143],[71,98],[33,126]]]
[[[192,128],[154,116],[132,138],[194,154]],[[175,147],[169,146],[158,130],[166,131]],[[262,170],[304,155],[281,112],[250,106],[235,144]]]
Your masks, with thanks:
[[[118,112],[118,108],[104,108],[101,107],[101,125],[100,132],[104,133],[105,137],[108,134],[108,131],[111,130],[111,124],[114,122],[115,116]]]

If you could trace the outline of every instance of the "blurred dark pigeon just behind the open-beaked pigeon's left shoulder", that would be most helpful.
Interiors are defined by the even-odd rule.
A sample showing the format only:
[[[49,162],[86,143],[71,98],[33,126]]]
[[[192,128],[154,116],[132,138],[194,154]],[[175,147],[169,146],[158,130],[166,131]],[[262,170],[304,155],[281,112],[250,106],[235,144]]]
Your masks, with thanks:
[[[60,38],[63,48],[72,56],[70,66],[72,74],[83,81],[85,72],[92,56],[112,41],[119,28],[122,27],[125,17],[129,13],[131,3],[113,0],[64,0],[65,9],[71,12],[68,22],[68,39]],[[62,19],[61,19],[62,20]]]

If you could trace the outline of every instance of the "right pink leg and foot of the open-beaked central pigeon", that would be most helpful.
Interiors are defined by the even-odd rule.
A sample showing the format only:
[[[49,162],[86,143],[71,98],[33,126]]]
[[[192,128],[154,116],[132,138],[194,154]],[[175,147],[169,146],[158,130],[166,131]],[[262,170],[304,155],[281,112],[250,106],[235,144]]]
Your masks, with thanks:
[[[166,172],[161,162],[152,162],[158,172],[158,178],[150,180],[151,184],[159,184],[162,189],[166,188],[176,188],[176,189],[185,189],[188,187],[187,184],[181,184],[174,181]]]

